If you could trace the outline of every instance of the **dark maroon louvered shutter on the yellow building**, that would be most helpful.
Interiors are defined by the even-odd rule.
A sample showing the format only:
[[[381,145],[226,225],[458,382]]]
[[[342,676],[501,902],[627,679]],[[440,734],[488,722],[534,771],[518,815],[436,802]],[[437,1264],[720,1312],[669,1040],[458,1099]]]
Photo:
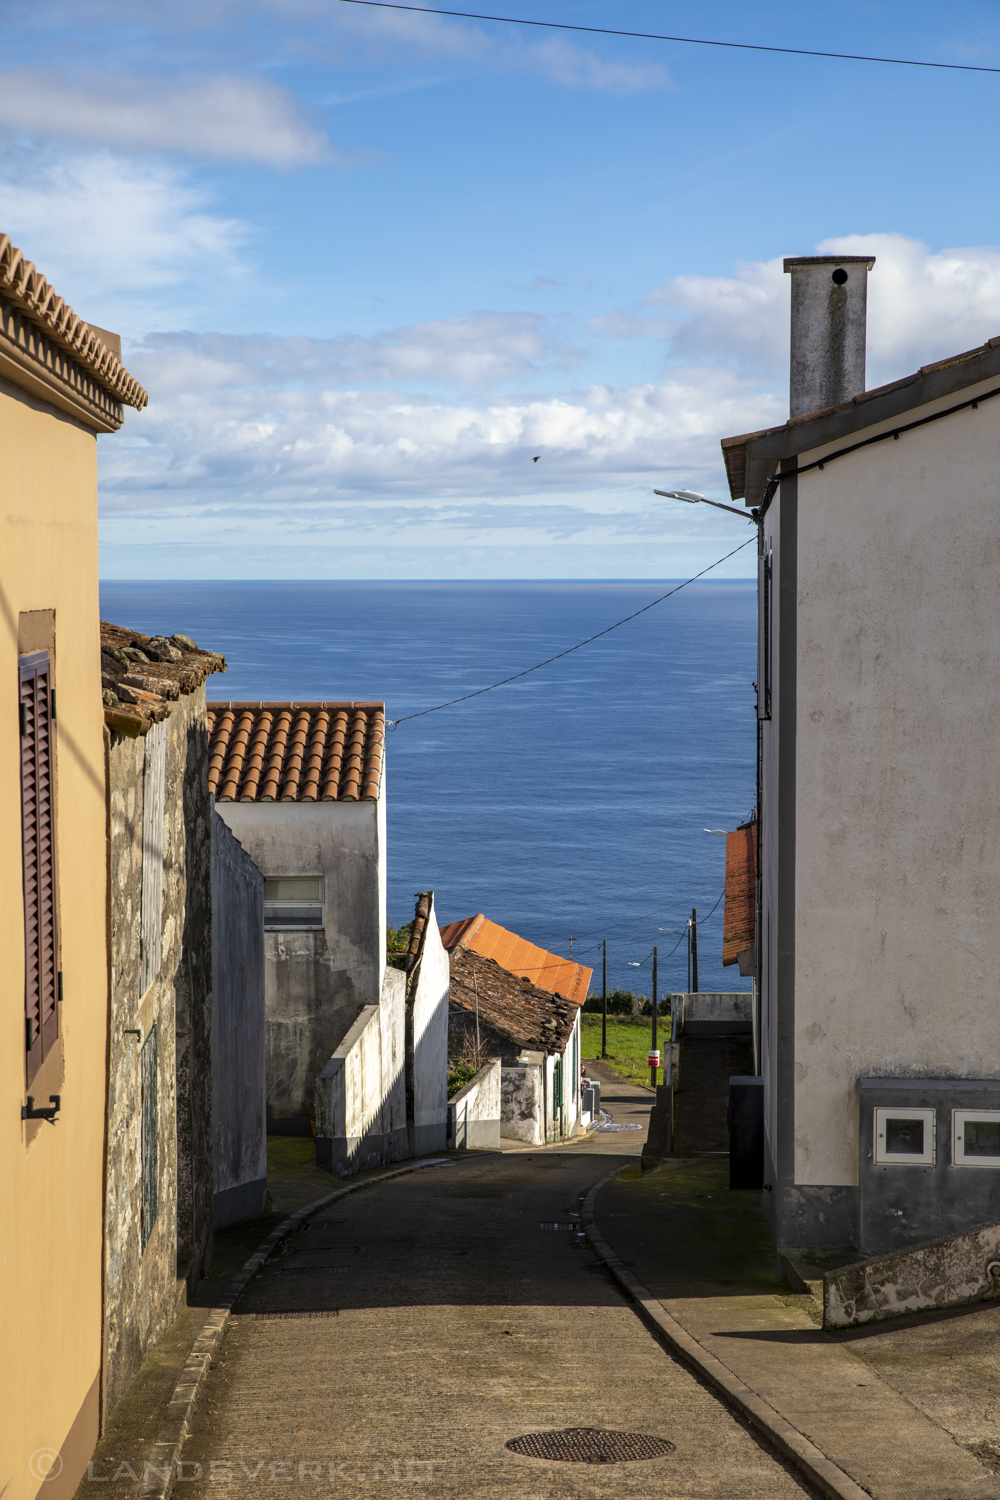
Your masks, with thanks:
[[[24,1042],[30,1083],[58,1036],[58,928],[52,782],[52,663],[18,658],[21,716],[21,848],[24,856]]]

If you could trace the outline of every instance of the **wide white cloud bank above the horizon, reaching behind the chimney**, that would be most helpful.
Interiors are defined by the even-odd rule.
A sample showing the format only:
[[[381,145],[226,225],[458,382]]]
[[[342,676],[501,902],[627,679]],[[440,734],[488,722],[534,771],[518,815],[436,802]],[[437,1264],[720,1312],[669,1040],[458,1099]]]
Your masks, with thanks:
[[[901,236],[817,249],[877,256],[874,380],[982,344],[1000,324],[1000,250],[931,252]],[[721,552],[732,520],[678,518],[651,490],[723,495],[720,438],[784,420],[787,306],[780,260],[675,278],[591,326],[663,339],[673,360],[663,380],[558,396],[477,394],[511,380],[531,390],[580,358],[564,324],[532,314],[366,339],[151,334],[132,362],[150,410],[102,444],[105,516],[120,538],[171,536],[187,518],[217,537],[246,531],[283,546],[535,537],[618,548],[697,536]],[[379,384],[388,388],[363,388]],[[445,393],[427,394],[435,384]]]

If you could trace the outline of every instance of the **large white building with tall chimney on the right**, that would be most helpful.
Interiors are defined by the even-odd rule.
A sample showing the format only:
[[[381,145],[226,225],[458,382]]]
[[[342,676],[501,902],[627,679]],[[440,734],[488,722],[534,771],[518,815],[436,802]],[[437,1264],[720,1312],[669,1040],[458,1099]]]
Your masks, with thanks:
[[[1000,1216],[1000,339],[864,390],[870,260],[786,261],[760,516],[765,1184],[778,1245]],[[819,410],[823,408],[823,410]]]

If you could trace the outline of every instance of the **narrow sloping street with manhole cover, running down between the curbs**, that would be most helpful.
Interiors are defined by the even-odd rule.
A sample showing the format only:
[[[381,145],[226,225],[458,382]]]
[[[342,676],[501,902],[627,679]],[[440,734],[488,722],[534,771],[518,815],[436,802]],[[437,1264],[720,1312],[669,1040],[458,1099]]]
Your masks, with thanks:
[[[607,1095],[618,1122],[645,1125],[648,1094]],[[666,1353],[576,1233],[586,1191],[643,1138],[472,1155],[318,1215],[235,1310],[180,1492],[811,1494]],[[675,1450],[582,1464],[505,1448],[564,1428]]]

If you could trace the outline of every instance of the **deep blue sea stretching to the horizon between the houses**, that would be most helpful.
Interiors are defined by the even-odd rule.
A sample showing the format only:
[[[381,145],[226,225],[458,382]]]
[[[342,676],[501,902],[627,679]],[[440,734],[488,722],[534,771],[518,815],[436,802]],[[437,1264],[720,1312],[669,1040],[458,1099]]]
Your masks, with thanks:
[[[214,699],[384,699],[418,714],[642,609],[669,582],[106,582],[105,620],[220,651]],[[723,838],[754,801],[756,584],[699,582],[496,692],[388,735],[388,920],[433,890],[439,921],[486,912],[609,986],[700,987],[723,969]],[[711,914],[711,915],[709,915]],[[676,951],[670,956],[672,950]],[[637,968],[639,966],[639,968]]]

